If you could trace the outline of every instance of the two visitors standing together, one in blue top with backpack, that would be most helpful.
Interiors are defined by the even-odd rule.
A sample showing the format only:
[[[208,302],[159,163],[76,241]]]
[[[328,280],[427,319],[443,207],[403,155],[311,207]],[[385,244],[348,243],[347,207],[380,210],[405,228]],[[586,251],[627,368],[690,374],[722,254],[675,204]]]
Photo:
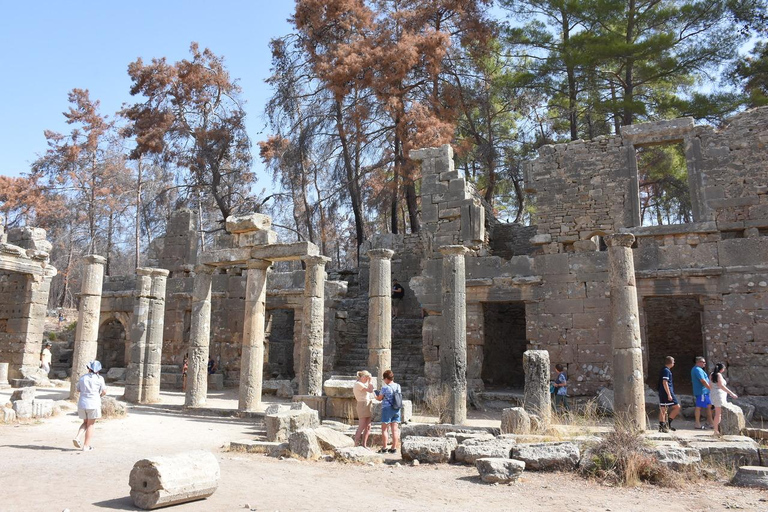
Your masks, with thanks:
[[[384,384],[381,389],[375,390],[371,381],[371,373],[368,370],[357,372],[357,380],[353,386],[355,400],[357,401],[357,417],[359,418],[357,431],[355,432],[355,446],[368,448],[368,436],[371,433],[371,421],[373,420],[374,399],[381,401],[381,449],[379,453],[396,453],[400,448],[400,422],[402,407],[402,389],[395,382],[395,374],[392,370],[383,373]],[[389,431],[392,431],[392,447],[389,444]]]

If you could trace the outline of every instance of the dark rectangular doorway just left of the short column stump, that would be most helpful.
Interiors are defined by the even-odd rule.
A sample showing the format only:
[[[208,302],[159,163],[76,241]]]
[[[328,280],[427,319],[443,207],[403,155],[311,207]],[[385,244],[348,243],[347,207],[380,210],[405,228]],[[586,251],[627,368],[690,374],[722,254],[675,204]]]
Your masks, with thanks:
[[[524,302],[483,303],[483,368],[486,388],[525,386],[523,352],[525,338]]]

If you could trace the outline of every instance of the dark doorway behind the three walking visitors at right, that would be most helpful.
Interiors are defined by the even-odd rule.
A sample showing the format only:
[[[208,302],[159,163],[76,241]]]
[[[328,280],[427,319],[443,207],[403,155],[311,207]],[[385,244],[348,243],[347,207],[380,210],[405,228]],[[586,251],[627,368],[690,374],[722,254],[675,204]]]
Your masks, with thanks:
[[[672,368],[675,393],[692,393],[691,368],[696,356],[704,356],[701,304],[697,296],[645,297],[645,346],[648,354],[647,384],[656,390],[664,358],[675,358]]]

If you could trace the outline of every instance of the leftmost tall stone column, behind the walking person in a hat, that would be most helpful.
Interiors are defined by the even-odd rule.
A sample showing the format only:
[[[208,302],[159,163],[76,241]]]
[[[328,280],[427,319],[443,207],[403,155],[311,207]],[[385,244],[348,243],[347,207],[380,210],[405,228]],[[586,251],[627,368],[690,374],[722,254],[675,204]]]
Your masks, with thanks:
[[[75,351],[72,354],[69,399],[77,400],[77,381],[88,372],[85,367],[96,359],[99,340],[99,314],[101,313],[101,286],[107,259],[92,254],[83,258],[83,282],[80,287],[80,308],[75,329]]]

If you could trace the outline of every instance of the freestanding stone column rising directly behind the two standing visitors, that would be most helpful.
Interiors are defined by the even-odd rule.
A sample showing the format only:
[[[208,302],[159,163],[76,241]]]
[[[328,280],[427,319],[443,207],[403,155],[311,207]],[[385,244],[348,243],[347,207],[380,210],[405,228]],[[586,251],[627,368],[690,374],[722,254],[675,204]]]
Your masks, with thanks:
[[[384,382],[392,368],[392,255],[389,249],[368,251],[371,261],[368,284],[368,369]]]

